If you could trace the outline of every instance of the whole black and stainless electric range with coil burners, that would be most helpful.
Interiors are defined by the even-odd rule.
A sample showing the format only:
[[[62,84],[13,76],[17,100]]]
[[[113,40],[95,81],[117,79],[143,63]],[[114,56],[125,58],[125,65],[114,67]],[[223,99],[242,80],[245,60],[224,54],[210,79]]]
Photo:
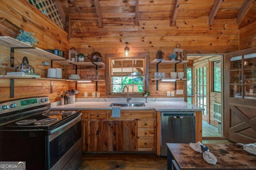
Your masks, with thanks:
[[[48,97],[0,103],[0,161],[27,170],[77,169],[82,161],[81,111],[52,111]]]

